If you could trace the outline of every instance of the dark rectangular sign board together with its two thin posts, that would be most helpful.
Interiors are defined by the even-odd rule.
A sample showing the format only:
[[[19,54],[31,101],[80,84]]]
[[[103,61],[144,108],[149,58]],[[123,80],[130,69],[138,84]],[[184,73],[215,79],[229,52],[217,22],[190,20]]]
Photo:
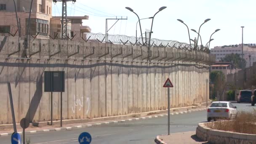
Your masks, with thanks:
[[[64,71],[45,71],[45,92],[51,92],[51,125],[53,125],[53,92],[61,92],[61,127],[62,127],[62,92],[65,92]]]

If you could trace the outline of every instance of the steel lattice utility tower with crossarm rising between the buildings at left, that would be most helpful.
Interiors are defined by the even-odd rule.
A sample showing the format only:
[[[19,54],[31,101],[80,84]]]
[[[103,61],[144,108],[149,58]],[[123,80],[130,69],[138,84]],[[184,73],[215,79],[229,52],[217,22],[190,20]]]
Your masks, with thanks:
[[[62,17],[61,17],[61,39],[67,39],[67,2],[76,0],[53,0],[53,3],[62,2]]]

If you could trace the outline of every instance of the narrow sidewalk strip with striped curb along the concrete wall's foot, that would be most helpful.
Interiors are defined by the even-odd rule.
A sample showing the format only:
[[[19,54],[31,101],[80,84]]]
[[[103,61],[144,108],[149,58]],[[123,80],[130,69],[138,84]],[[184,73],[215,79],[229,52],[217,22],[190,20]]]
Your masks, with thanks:
[[[198,104],[190,107],[181,107],[181,108],[173,108],[171,109],[171,115],[181,115],[193,111],[200,111],[205,110],[203,106],[205,104]],[[136,113],[132,115],[123,115],[123,116],[114,116],[114,117],[99,117],[93,118],[90,121],[81,119],[81,120],[64,120],[62,127],[60,127],[59,121],[53,121],[53,125],[39,125],[33,126],[30,124],[29,128],[25,129],[25,133],[38,133],[38,132],[47,132],[47,131],[69,131],[72,129],[77,128],[86,128],[95,125],[104,125],[109,123],[121,123],[125,121],[132,121],[132,120],[144,120],[149,118],[156,118],[156,117],[164,117],[167,116],[167,109],[161,111],[154,111],[154,112],[143,112],[143,113]],[[79,122],[79,123],[72,123],[72,122]],[[46,122],[47,123],[47,122]],[[4,126],[4,125],[3,125]],[[19,124],[17,124],[17,132],[21,134],[22,128]],[[8,136],[13,133],[12,125],[8,124],[7,128],[0,129],[0,136]]]

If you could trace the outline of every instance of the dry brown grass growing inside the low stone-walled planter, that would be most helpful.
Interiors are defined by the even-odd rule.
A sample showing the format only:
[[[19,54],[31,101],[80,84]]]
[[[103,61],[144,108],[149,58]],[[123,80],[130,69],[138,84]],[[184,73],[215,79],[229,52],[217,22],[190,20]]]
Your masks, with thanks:
[[[256,109],[253,112],[239,112],[235,120],[207,123],[208,128],[236,133],[256,134]]]

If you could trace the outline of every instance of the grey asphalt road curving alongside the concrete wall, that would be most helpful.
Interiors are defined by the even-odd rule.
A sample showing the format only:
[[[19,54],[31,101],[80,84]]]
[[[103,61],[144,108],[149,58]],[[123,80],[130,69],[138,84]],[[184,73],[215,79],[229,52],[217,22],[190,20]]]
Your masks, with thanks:
[[[251,104],[234,104],[238,111],[252,111]],[[256,108],[256,107],[254,107]],[[206,111],[171,116],[171,133],[195,131],[197,124],[206,121]],[[125,121],[72,131],[51,131],[27,134],[31,144],[78,144],[82,132],[92,135],[91,144],[154,144],[157,135],[166,134],[167,116]],[[10,144],[11,137],[0,137],[0,144]]]

